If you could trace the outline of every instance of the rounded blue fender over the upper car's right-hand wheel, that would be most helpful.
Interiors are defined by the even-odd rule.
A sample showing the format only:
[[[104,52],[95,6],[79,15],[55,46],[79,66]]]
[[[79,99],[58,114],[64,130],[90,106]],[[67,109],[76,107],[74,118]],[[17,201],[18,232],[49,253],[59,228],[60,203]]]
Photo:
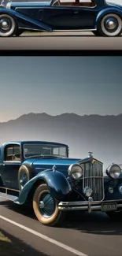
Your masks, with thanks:
[[[105,15],[105,14],[109,14],[109,13],[114,13],[114,14],[118,14],[121,18],[122,18],[122,11],[119,8],[113,8],[113,7],[106,7],[104,9],[102,9],[97,17],[96,17],[96,21],[95,21],[95,28],[97,28],[99,21],[101,20],[101,18]]]

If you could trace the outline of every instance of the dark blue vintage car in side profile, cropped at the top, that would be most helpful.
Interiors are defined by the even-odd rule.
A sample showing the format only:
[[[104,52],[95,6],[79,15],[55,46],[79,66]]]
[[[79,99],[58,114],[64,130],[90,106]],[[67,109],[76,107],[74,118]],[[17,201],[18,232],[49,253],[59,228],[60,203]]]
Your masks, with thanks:
[[[25,31],[91,31],[99,36],[122,32],[122,6],[105,0],[8,2],[0,6],[0,36]]]

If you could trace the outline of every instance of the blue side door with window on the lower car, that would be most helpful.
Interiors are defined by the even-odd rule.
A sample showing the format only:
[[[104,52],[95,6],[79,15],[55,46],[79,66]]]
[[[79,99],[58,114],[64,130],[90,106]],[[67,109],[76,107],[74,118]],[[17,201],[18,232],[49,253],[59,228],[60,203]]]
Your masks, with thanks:
[[[1,179],[4,187],[19,189],[18,170],[21,165],[20,146],[17,144],[5,147],[5,158],[1,165]]]

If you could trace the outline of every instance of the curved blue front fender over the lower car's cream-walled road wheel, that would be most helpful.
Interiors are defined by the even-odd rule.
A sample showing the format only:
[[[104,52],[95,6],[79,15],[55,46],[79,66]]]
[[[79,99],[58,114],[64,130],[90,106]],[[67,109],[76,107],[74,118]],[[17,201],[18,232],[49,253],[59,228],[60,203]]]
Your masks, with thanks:
[[[38,180],[40,181],[40,184],[41,181],[44,181],[47,184],[50,193],[57,201],[65,200],[66,196],[68,196],[72,191],[72,188],[63,173],[60,173],[58,171],[53,172],[52,170],[46,170],[29,180],[28,183],[24,185],[24,188],[20,192],[19,197],[14,202],[18,204],[23,204],[24,202],[26,202],[28,198],[28,193],[31,191],[32,187]]]

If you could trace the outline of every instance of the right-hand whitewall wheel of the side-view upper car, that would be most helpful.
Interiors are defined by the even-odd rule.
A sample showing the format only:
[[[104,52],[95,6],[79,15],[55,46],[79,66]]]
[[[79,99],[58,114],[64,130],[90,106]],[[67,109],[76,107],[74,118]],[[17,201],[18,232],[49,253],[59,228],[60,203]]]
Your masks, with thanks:
[[[103,36],[119,36],[122,33],[120,16],[115,13],[105,14],[98,24],[97,31]]]

